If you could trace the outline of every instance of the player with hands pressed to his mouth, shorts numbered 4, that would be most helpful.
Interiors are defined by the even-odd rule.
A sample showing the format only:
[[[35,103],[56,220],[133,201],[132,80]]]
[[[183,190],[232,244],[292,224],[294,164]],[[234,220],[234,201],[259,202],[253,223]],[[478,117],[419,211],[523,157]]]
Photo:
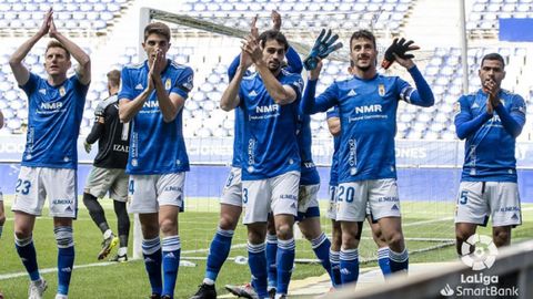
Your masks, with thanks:
[[[132,122],[129,213],[139,213],[151,298],[174,296],[181,252],[178,214],[189,171],[182,109],[192,90],[193,71],[167,59],[170,37],[164,23],[144,28],[142,47],[148,59],[122,69],[119,92],[119,117]]]

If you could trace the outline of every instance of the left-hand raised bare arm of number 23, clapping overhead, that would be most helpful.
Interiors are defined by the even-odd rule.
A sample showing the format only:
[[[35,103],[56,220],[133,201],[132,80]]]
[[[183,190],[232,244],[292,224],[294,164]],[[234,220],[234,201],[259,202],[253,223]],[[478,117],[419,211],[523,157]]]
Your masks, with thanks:
[[[22,43],[11,55],[9,59],[9,66],[13,71],[14,79],[19,85],[24,85],[28,80],[30,79],[30,72],[28,69],[22,64],[22,61],[30,52],[31,48],[36,45],[36,43],[44,35],[48,34],[50,30],[50,20],[52,19],[52,9],[50,9],[46,14],[44,19],[42,20],[41,28],[36,33],[36,35],[31,37],[24,43]]]

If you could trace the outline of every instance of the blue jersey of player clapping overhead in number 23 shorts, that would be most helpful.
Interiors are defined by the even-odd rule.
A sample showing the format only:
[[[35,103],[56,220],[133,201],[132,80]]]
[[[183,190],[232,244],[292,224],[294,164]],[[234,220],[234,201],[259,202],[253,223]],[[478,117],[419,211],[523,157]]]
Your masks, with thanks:
[[[30,73],[20,86],[28,95],[28,135],[22,166],[78,167],[78,135],[89,84],[77,75],[52,86],[46,79]]]

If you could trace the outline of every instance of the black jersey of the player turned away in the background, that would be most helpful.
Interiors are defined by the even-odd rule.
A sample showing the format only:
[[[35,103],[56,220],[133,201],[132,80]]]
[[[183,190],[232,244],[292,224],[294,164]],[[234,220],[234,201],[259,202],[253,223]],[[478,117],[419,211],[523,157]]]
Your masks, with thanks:
[[[102,168],[125,168],[130,145],[130,123],[119,118],[117,94],[103,100],[94,110],[94,125],[87,143],[98,141],[98,155],[94,166]]]

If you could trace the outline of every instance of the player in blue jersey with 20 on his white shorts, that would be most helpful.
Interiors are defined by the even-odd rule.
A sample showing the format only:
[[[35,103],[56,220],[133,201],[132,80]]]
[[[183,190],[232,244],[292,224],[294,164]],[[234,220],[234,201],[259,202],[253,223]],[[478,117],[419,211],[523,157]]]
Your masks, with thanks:
[[[302,111],[309,114],[339,106],[336,220],[341,221],[342,230],[343,283],[356,281],[359,277],[358,223],[364,220],[368,203],[389,245],[391,271],[406,271],[409,256],[401,226],[394,155],[396,109],[400,100],[420,106],[434,103],[430,86],[410,58],[395,54],[396,62],[409,71],[418,90],[398,76],[378,74],[376,55],[374,35],[366,30],[354,32],[350,39],[353,76],[334,82],[315,97],[322,68],[319,62],[318,68],[309,72],[302,97]]]

